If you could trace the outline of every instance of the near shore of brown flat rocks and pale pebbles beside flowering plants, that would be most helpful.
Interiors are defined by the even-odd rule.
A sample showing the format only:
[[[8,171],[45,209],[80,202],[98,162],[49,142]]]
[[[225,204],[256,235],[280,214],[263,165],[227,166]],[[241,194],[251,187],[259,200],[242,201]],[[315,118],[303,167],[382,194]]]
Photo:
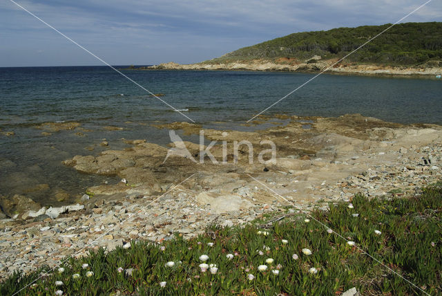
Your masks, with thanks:
[[[213,223],[248,223],[289,205],[269,189],[309,210],[327,209],[327,203],[349,201],[356,193],[413,195],[441,181],[441,126],[403,125],[361,115],[278,118],[286,123],[274,122],[274,127],[253,132],[202,129],[186,122],[157,125],[187,134],[203,130],[209,142],[218,141],[211,148],[217,160],[224,157],[222,141],[226,142],[226,163],[209,158],[197,163],[178,155],[165,159],[174,145],[146,140],[131,140],[131,147],[123,150],[66,160],[64,165],[79,173],[122,181],[88,188],[78,205],[46,209],[16,197],[9,217],[0,220],[0,279],[15,270],[55,266],[63,257],[84,256],[90,249],[128,248],[133,240],[160,243],[176,232],[193,237]],[[260,116],[253,124],[272,120]],[[276,159],[260,163],[255,154],[251,163],[245,145],[233,154],[233,142],[241,140],[258,150],[268,148],[262,141],[273,141]],[[198,158],[200,145],[181,144]],[[27,207],[17,207],[20,203]]]

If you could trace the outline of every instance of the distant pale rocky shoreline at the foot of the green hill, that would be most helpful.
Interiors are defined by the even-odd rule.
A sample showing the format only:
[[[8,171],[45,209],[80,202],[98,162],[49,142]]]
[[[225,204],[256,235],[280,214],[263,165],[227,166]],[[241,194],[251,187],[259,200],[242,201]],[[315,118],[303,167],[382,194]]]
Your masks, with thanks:
[[[441,75],[440,66],[383,66],[369,64],[352,64],[338,62],[337,59],[321,60],[312,63],[309,61],[296,61],[290,58],[278,60],[255,59],[251,61],[236,61],[213,63],[210,61],[196,64],[177,64],[175,62],[162,63],[154,66],[136,68],[138,70],[247,70],[247,71],[289,71],[289,72],[314,72],[325,71],[326,73],[340,73],[350,75],[419,75],[436,77]]]

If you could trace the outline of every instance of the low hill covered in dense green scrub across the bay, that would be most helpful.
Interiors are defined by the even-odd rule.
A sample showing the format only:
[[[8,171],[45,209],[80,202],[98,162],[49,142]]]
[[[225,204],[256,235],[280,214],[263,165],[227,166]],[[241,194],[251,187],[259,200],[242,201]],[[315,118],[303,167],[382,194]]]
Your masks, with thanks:
[[[240,48],[207,62],[215,64],[251,59],[277,61],[280,58],[306,61],[314,56],[320,56],[322,59],[340,58],[389,26],[391,24],[294,33]],[[442,60],[441,22],[397,24],[346,59],[348,62],[364,64],[434,63],[434,66],[437,66],[440,60]],[[311,62],[315,62],[315,59]]]

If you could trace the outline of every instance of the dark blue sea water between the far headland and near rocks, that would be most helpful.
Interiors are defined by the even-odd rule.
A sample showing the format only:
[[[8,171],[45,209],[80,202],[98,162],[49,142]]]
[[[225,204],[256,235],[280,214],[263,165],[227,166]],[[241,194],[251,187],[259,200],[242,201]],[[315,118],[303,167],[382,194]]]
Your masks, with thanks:
[[[115,66],[125,68],[126,66]],[[130,71],[131,77],[203,127],[246,129],[244,122],[306,82],[314,74],[253,71]],[[320,75],[265,115],[338,116],[361,113],[401,123],[442,124],[442,80],[421,77]],[[35,126],[75,121],[84,129],[44,136]],[[61,161],[97,155],[106,139],[170,142],[151,124],[188,121],[157,98],[106,66],[0,68],[0,194],[25,194],[40,203],[60,189],[72,198],[111,178],[78,174]],[[122,127],[108,131],[106,126]],[[92,150],[93,149],[93,150]],[[110,180],[113,181],[113,180]],[[33,193],[35,186],[49,190]],[[66,202],[66,201],[65,201]]]

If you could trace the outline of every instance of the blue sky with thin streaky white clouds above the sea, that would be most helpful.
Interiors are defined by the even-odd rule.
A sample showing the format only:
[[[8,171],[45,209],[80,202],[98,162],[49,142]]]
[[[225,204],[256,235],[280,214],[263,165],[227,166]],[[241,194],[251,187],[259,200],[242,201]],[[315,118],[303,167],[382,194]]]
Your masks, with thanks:
[[[108,64],[190,64],[291,33],[395,23],[427,0],[14,0]],[[442,21],[432,0],[407,21]],[[103,65],[10,0],[0,67]]]

